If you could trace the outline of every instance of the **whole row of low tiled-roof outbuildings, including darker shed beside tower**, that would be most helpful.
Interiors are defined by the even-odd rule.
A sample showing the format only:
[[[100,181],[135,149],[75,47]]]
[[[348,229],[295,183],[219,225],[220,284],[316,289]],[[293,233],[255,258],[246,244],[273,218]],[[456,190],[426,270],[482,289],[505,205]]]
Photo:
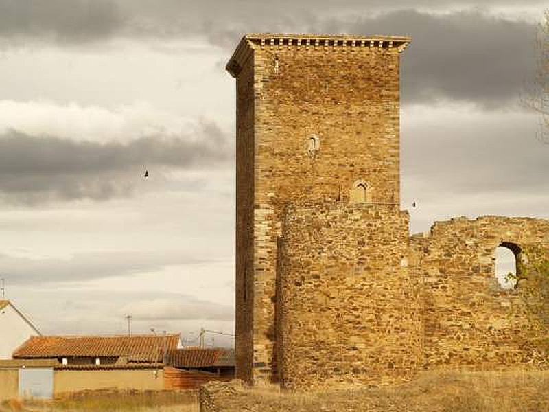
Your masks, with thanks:
[[[179,334],[34,336],[0,361],[2,398],[101,389],[194,389],[234,376],[234,352],[180,347]]]

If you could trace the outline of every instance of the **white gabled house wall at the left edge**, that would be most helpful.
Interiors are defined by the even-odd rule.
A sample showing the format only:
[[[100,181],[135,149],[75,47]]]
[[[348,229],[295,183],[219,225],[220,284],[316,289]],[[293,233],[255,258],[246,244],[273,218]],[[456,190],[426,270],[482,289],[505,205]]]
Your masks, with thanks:
[[[8,300],[0,300],[0,359],[11,359],[12,353],[38,329]]]

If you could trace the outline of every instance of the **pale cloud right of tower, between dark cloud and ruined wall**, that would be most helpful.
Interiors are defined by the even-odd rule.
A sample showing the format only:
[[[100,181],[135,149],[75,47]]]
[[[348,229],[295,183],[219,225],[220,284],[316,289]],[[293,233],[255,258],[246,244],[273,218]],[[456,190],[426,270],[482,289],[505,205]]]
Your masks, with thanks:
[[[536,124],[520,111],[406,114],[402,207],[412,231],[452,216],[549,217],[549,146],[535,139]]]

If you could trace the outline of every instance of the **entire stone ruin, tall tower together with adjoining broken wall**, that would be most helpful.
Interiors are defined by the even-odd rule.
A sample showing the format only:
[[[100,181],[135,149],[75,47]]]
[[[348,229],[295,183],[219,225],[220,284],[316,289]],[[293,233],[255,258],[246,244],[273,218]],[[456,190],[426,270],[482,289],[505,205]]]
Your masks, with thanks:
[[[248,34],[227,65],[237,80],[245,382],[306,389],[399,382],[432,367],[546,367],[549,222],[452,220],[409,236],[399,209],[399,58],[409,42]],[[502,243],[525,277],[513,290],[495,281]]]

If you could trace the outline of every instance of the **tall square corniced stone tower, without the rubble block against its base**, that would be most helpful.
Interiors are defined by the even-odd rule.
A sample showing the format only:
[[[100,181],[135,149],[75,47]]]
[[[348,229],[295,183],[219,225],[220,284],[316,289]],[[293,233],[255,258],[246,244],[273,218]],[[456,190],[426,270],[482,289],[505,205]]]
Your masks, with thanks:
[[[406,243],[407,218],[399,212],[399,56],[408,43],[389,36],[248,34],[229,60],[226,69],[237,80],[238,378],[279,378],[283,226],[288,209],[303,218],[292,205],[372,205],[358,214],[397,216],[402,233],[395,242]],[[315,209],[307,210],[315,222]],[[336,215],[321,217],[334,227]],[[301,226],[289,227],[291,246]]]

